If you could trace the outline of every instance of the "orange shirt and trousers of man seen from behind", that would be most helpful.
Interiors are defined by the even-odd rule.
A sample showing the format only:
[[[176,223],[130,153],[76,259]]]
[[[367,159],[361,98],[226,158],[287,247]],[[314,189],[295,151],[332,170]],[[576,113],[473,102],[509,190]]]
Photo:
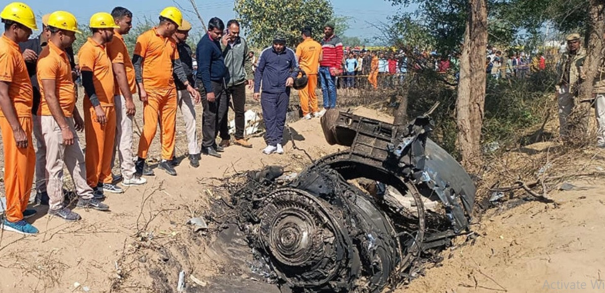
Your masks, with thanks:
[[[321,56],[321,44],[313,39],[306,39],[296,47],[296,56],[299,57],[299,65],[309,77],[309,83],[298,92],[301,99],[302,115],[317,112],[317,71],[319,68],[319,56]],[[309,107],[310,105],[310,107]]]

